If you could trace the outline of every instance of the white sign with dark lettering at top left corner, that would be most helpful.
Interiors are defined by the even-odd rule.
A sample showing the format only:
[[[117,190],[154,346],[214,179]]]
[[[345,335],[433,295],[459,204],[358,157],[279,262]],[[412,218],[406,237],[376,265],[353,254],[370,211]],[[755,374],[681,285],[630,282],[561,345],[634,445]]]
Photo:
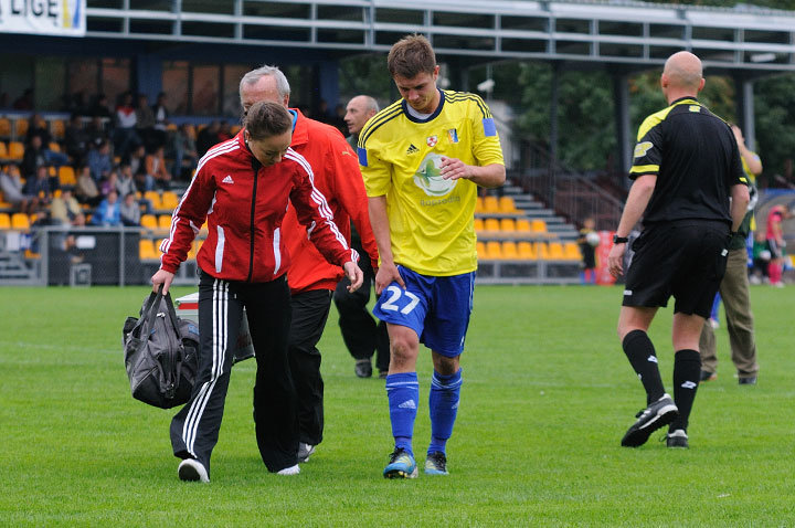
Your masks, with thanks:
[[[85,35],[86,0],[0,0],[0,33]]]

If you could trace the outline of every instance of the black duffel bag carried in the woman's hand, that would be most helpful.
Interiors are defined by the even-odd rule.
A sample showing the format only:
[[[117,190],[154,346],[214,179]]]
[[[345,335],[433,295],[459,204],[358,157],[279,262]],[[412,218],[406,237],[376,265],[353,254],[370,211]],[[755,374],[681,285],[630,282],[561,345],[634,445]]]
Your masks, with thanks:
[[[161,409],[188,402],[199,370],[199,328],[177,317],[162,285],[144,302],[140,318],[125,320],[121,334],[132,398]]]

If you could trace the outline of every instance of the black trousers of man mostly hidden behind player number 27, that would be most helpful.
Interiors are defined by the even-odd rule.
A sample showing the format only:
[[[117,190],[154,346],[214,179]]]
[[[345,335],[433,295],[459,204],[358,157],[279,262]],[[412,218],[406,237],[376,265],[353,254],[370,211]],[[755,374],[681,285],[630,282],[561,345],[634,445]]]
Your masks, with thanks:
[[[350,281],[348,277],[342,277],[335,291],[333,300],[339,313],[342,340],[353,359],[370,359],[373,352],[378,352],[375,367],[379,370],[386,371],[389,370],[386,324],[378,321],[367,308],[370,302],[370,289],[375,283],[375,273],[361,244],[353,242],[351,245],[361,255],[359,266],[364,272],[364,283],[359,289],[350,293],[348,292]]]

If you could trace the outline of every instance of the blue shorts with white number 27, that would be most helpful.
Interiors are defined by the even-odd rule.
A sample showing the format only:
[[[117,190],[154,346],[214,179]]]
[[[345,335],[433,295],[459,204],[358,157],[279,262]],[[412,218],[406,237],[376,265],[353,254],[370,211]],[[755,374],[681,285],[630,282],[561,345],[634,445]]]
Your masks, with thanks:
[[[475,272],[448,277],[420,275],[398,266],[406,288],[393,282],[381,292],[373,315],[391,325],[405,326],[420,342],[442,356],[464,351],[475,292]]]

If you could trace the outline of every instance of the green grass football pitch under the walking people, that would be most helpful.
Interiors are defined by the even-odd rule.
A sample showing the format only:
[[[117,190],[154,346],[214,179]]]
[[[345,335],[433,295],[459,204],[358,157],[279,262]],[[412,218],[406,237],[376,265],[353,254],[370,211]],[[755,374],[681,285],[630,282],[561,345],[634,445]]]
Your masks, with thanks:
[[[194,289],[174,288],[174,296]],[[463,357],[451,475],[386,481],[383,381],[361,380],[332,308],[321,341],[326,440],[301,474],[268,474],[254,361],[235,367],[210,485],[181,483],[171,411],[129,395],[120,329],[144,287],[2,288],[2,526],[793,526],[792,288],[752,288],[762,371],[739,387],[725,329],[690,450],[619,440],[645,404],[615,336],[618,287],[486,287]],[[650,335],[670,391],[670,309]],[[414,447],[428,441],[430,353]],[[278,404],[278,403],[276,403]]]

